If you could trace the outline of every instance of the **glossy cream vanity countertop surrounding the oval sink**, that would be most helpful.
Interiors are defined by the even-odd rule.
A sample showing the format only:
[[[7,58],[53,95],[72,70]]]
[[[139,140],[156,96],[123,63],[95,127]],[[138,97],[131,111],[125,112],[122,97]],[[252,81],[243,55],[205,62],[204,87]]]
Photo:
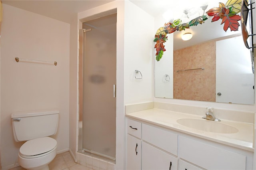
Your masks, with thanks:
[[[163,109],[147,109],[144,111],[138,111],[133,113],[127,113],[127,117],[137,119],[140,121],[152,123],[160,127],[169,128],[176,130],[178,132],[183,132],[207,140],[212,140],[214,142],[219,142],[222,144],[227,144],[236,148],[241,148],[244,150],[254,151],[253,148],[253,129],[254,124],[244,123],[237,121],[221,120],[220,123],[236,127],[238,132],[236,133],[215,133],[206,132],[203,130],[197,130],[194,128],[189,128],[177,123],[178,119],[190,118],[190,119],[202,119],[202,116],[192,115],[174,111],[168,111]],[[205,120],[205,119],[202,119]],[[205,120],[209,121],[209,120]]]

